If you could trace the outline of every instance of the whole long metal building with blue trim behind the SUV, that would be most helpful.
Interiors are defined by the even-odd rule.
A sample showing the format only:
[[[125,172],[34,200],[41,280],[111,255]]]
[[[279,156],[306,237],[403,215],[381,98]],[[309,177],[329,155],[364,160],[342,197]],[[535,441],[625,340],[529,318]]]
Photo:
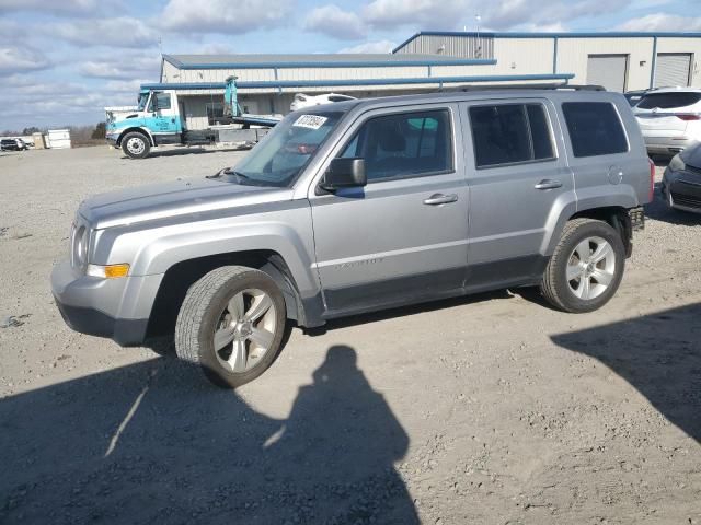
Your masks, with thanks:
[[[632,91],[701,88],[701,33],[421,32],[387,55],[163,55],[159,83],[180,90],[188,129],[221,117],[238,77],[246,113],[286,114],[295,93],[359,97],[474,83],[572,82]]]

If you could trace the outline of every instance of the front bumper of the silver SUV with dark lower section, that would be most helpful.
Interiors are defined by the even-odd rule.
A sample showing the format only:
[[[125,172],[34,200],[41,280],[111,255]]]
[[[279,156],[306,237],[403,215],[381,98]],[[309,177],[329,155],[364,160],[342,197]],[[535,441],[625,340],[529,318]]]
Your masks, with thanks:
[[[150,304],[138,303],[138,292],[151,299],[162,276],[100,279],[78,276],[69,262],[51,270],[51,292],[66,324],[76,331],[107,337],[123,347],[138,346],[146,339]],[[153,279],[157,278],[157,279]],[[135,298],[129,301],[129,298]]]

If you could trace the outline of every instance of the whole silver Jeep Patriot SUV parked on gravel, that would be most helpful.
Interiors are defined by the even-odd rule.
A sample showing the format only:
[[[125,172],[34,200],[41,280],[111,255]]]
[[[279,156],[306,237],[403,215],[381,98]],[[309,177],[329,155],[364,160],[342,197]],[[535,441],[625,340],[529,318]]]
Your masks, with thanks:
[[[174,335],[180,358],[235,387],[273,363],[291,323],[507,287],[600,307],[653,175],[619,94],[315,106],[235,167],[84,201],[51,287],[73,329],[123,346]]]

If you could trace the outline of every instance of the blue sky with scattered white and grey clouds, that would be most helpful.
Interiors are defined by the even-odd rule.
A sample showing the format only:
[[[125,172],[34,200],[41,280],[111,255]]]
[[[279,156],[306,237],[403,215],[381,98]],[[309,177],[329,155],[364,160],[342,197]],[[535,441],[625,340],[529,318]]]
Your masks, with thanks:
[[[95,124],[163,54],[389,52],[418,31],[701,31],[700,0],[0,0],[0,130]],[[479,16],[479,22],[478,22]]]

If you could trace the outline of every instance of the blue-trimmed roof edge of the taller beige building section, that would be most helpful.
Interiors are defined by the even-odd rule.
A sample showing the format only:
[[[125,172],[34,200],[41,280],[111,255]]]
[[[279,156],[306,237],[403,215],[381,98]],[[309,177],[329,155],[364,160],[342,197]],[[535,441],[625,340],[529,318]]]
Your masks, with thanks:
[[[420,36],[463,36],[480,38],[701,38],[701,33],[652,32],[652,31],[601,31],[601,32],[495,32],[495,31],[420,31],[392,49],[395,54]]]

